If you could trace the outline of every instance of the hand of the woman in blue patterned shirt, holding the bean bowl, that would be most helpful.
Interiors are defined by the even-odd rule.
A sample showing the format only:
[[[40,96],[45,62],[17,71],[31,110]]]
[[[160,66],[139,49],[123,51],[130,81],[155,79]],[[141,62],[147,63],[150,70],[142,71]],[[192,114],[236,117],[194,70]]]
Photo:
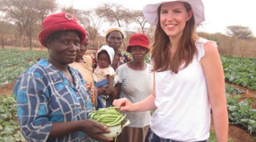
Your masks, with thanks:
[[[94,120],[87,119],[81,123],[81,131],[85,132],[90,138],[98,141],[112,141],[113,138],[108,138],[102,135],[102,133],[108,133],[110,130],[108,127],[100,124]]]

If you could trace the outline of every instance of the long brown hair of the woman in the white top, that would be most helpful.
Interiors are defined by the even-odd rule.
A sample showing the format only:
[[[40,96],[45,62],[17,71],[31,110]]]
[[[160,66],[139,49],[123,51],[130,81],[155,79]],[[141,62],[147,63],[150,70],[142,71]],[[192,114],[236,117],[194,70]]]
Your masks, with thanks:
[[[191,6],[183,2],[187,12],[191,10]],[[189,63],[192,62],[193,57],[197,54],[197,49],[195,46],[196,41],[196,27],[194,14],[186,22],[183,34],[179,39],[179,45],[177,51],[171,57],[169,51],[169,46],[171,45],[169,36],[165,34],[160,25],[160,11],[161,5],[158,7],[158,22],[155,30],[154,43],[151,48],[151,58],[154,60],[153,71],[166,71],[171,70],[174,73],[178,73],[179,66],[182,60],[185,60],[186,68]]]

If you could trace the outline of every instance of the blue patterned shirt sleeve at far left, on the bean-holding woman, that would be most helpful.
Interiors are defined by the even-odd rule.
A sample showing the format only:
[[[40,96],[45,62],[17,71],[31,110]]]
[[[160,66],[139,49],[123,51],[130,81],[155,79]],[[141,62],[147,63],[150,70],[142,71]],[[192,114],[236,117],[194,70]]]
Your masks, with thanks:
[[[46,141],[52,128],[50,92],[39,76],[38,72],[22,74],[15,85],[18,121],[27,141]]]

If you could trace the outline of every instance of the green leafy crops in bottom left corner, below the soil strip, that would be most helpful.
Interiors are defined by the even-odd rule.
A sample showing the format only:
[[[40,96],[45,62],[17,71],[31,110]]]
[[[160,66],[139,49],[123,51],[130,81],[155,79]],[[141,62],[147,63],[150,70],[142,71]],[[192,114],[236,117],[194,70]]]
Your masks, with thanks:
[[[26,141],[21,135],[14,95],[0,96],[0,141]]]

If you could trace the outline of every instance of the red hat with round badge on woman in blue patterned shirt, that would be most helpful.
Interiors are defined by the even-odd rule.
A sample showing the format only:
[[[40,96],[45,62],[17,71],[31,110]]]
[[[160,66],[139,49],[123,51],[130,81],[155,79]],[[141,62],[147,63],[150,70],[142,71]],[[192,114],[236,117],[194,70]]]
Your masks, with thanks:
[[[76,30],[79,32],[80,43],[86,37],[85,29],[80,26],[75,16],[69,13],[56,13],[50,16],[47,16],[43,20],[43,29],[38,35],[40,43],[46,47],[47,38],[57,31],[67,31],[67,30]]]

